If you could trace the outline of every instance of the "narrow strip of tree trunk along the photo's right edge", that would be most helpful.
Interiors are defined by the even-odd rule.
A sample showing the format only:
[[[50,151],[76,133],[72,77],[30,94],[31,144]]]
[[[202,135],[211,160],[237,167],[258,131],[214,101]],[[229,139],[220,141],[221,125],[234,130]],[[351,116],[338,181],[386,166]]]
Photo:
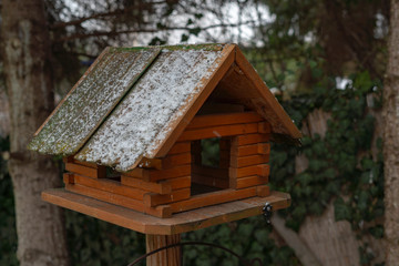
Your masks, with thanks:
[[[383,88],[386,265],[399,262],[399,1],[391,0],[388,66]]]

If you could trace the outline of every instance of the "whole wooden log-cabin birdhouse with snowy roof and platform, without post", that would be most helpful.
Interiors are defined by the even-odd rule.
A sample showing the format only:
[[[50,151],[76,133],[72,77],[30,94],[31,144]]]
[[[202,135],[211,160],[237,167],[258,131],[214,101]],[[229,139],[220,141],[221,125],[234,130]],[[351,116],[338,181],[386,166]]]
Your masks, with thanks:
[[[235,44],[108,48],[29,147],[64,157],[45,201],[167,235],[287,207],[269,142],[299,137]]]

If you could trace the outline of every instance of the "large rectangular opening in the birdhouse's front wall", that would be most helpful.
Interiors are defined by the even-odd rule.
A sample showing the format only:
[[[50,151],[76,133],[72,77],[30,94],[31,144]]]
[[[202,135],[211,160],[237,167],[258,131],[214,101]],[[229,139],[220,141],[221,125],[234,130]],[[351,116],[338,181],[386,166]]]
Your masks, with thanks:
[[[192,195],[229,188],[229,139],[213,137],[192,142]]]

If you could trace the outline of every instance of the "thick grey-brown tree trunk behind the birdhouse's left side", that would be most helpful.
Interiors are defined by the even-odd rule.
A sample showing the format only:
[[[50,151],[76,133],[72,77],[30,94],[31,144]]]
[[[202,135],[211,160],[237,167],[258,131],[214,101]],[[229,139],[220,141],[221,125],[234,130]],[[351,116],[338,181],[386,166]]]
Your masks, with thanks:
[[[2,58],[10,102],[11,157],[21,266],[69,265],[61,209],[41,191],[60,185],[54,162],[27,151],[53,109],[50,35],[42,0],[2,1]]]

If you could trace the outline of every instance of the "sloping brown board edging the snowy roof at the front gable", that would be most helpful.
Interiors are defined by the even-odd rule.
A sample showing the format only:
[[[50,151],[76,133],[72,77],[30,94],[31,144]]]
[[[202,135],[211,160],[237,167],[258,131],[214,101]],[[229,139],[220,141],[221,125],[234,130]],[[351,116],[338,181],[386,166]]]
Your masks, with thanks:
[[[204,104],[205,100],[209,96],[212,91],[216,88],[217,83],[222,80],[224,74],[228,71],[231,65],[235,60],[235,44],[226,44],[222,50],[221,59],[215,63],[217,66],[216,71],[208,78],[203,80],[203,89],[195,95],[195,100],[187,110],[186,106],[182,106],[185,111],[185,114],[173,124],[170,125],[170,129],[173,129],[171,133],[164,137],[164,141],[157,151],[154,152],[154,157],[163,157],[166,155],[167,151],[171,150],[172,145],[176,142],[178,136],[182,134],[184,129],[187,126],[190,121],[198,112],[200,108]]]

